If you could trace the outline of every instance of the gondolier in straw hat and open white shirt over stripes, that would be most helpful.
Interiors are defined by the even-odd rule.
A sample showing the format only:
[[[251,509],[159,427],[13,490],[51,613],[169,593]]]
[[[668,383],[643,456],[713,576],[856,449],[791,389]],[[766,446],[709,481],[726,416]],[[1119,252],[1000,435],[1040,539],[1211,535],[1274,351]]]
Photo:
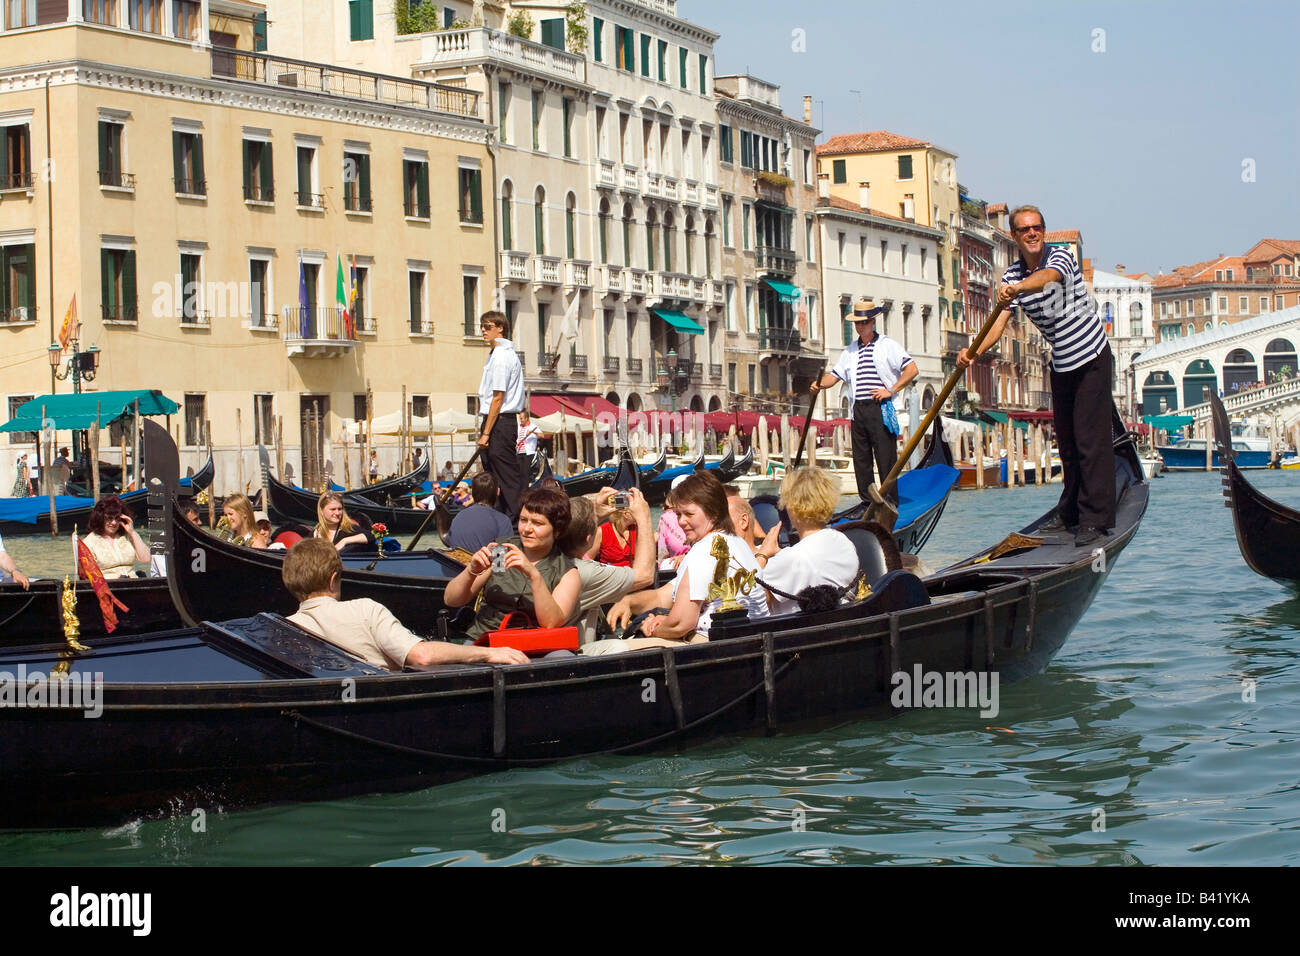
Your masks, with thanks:
[[[881,480],[898,460],[898,414],[893,397],[907,388],[918,372],[906,349],[876,332],[876,316],[884,311],[871,299],[853,303],[853,328],[858,337],[844,350],[835,368],[811,386],[812,392],[819,392],[844,382],[853,397],[853,472],[863,501],[871,501],[867,489],[875,481],[871,459],[875,458]],[[887,492],[894,501],[896,488]]]

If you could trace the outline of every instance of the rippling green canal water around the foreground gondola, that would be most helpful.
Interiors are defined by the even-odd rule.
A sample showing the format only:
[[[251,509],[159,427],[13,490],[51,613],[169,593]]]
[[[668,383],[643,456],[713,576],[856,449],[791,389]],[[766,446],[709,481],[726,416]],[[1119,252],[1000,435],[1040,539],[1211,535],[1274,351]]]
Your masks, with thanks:
[[[1252,479],[1300,506],[1300,473]],[[0,862],[1295,865],[1300,601],[1245,567],[1218,485],[1153,483],[1092,609],[1046,672],[1001,688],[996,718],[913,711],[416,793],[212,808],[202,832],[185,814],[3,834]],[[954,493],[923,557],[965,557],[1058,493]],[[20,563],[49,548],[6,544]]]

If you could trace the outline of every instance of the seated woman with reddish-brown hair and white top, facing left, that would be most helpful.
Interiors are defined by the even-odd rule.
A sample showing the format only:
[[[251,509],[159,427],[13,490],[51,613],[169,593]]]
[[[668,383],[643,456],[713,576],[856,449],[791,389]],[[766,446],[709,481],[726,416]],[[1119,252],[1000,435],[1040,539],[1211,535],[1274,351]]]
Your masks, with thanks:
[[[642,619],[644,637],[632,640],[595,641],[582,649],[588,654],[607,654],[640,648],[675,646],[708,640],[708,624],[722,604],[720,597],[710,597],[710,585],[719,570],[732,578],[737,571],[758,571],[754,551],[736,537],[727,493],[716,477],[708,472],[689,475],[676,489],[675,502],[681,529],[690,550],[677,568],[677,576],[654,591],[628,594],[610,610],[608,623],[614,628],[625,627],[634,614],[668,607],[667,614],[653,613]],[[714,551],[718,541],[725,542],[727,559],[719,568],[720,555]],[[767,617],[767,600],[755,584],[749,593],[737,596],[750,619]]]

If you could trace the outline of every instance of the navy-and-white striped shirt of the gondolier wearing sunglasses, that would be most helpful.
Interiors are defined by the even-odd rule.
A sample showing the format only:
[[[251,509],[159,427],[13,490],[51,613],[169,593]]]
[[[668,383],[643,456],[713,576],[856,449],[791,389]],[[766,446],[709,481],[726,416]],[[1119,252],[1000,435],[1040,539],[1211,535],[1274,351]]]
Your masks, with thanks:
[[[1030,321],[1039,326],[1052,343],[1052,369],[1070,372],[1092,362],[1106,347],[1106,329],[1097,317],[1097,303],[1083,282],[1083,272],[1070,250],[1056,246],[1048,250],[1039,269],[1056,269],[1061,285],[1050,284],[1037,293],[1022,293],[1011,300],[1020,306]],[[1022,282],[1037,269],[1017,259],[1002,273],[1002,282]]]

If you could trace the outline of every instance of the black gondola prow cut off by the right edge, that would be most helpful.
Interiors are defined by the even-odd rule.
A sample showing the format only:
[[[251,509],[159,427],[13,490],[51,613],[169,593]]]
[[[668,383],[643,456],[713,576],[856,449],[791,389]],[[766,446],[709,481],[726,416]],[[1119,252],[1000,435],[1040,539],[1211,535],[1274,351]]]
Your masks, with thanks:
[[[1256,490],[1236,464],[1232,429],[1214,390],[1210,389],[1214,442],[1218,445],[1223,476],[1223,497],[1232,509],[1236,545],[1256,574],[1283,584],[1300,583],[1300,511]]]

